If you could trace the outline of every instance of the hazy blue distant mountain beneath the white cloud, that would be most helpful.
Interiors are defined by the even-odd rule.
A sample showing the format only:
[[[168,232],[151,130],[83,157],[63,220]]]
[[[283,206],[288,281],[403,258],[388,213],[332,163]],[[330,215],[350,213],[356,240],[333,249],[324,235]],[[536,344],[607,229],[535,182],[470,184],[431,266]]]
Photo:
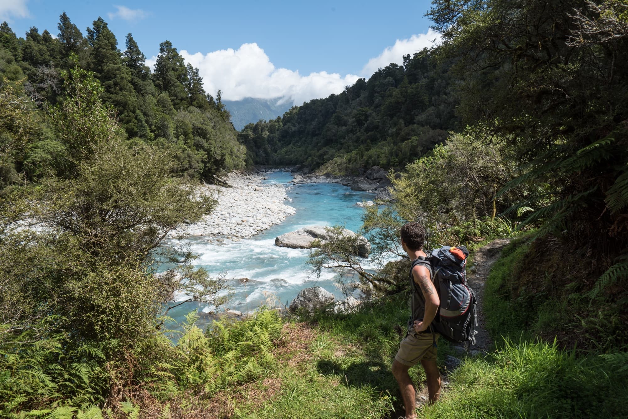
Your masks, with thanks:
[[[231,114],[231,121],[237,130],[242,130],[244,125],[257,122],[260,119],[269,120],[282,116],[292,107],[292,101],[277,104],[281,98],[256,99],[246,97],[242,100],[223,100],[227,110]]]

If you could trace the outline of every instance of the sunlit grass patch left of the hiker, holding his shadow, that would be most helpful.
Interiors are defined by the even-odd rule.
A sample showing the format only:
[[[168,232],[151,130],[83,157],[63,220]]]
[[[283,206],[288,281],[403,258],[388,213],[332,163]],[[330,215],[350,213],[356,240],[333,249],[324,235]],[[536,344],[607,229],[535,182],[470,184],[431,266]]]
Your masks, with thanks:
[[[317,312],[302,319],[316,334],[304,350],[308,359],[283,368],[281,391],[271,400],[251,401],[239,410],[241,417],[384,418],[395,410],[403,413],[391,365],[401,341],[396,326],[405,327],[408,307],[407,296],[398,294],[354,313]],[[423,381],[420,368],[411,373]]]

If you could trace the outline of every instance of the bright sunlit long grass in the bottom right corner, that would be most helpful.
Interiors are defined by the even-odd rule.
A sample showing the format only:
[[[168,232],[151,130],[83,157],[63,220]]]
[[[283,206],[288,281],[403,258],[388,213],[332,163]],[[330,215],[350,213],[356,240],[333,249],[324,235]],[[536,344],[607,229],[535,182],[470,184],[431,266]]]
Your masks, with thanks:
[[[625,359],[577,357],[555,343],[514,343],[486,359],[467,359],[425,418],[625,417]]]

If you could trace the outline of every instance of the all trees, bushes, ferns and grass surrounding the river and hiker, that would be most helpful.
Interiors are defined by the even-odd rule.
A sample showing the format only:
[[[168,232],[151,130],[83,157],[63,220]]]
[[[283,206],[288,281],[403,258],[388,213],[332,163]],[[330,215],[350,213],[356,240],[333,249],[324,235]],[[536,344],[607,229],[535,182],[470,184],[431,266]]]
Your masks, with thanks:
[[[494,350],[463,359],[421,417],[622,417],[628,6],[434,0],[426,15],[441,45],[240,132],[170,41],[151,71],[102,18],[85,36],[65,13],[57,36],[3,23],[0,416],[394,416],[408,260],[384,256],[421,221],[428,247],[511,240],[485,288]],[[215,207],[200,184],[297,165],[390,171],[394,201],[360,231],[381,269],[360,267],[350,238],[311,253],[309,268],[353,267],[369,298],[207,331],[191,313],[171,342],[173,292],[224,303],[224,278],[160,246]],[[163,260],[175,274],[153,275]],[[439,342],[440,366],[450,354]]]

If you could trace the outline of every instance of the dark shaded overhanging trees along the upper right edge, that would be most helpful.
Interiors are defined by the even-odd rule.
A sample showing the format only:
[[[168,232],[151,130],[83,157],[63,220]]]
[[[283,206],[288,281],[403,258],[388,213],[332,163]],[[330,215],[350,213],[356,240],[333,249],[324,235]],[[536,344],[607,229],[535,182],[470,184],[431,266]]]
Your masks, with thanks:
[[[443,33],[443,55],[459,60],[460,116],[516,150],[519,176],[502,193],[524,182],[547,184],[513,210],[528,210],[526,222],[541,226],[537,237],[563,243],[561,253],[590,260],[595,268],[570,286],[598,277],[578,287],[606,300],[595,302],[609,307],[600,317],[625,312],[628,80],[617,77],[628,73],[625,4],[433,4],[429,16]],[[531,199],[544,204],[534,208]]]

